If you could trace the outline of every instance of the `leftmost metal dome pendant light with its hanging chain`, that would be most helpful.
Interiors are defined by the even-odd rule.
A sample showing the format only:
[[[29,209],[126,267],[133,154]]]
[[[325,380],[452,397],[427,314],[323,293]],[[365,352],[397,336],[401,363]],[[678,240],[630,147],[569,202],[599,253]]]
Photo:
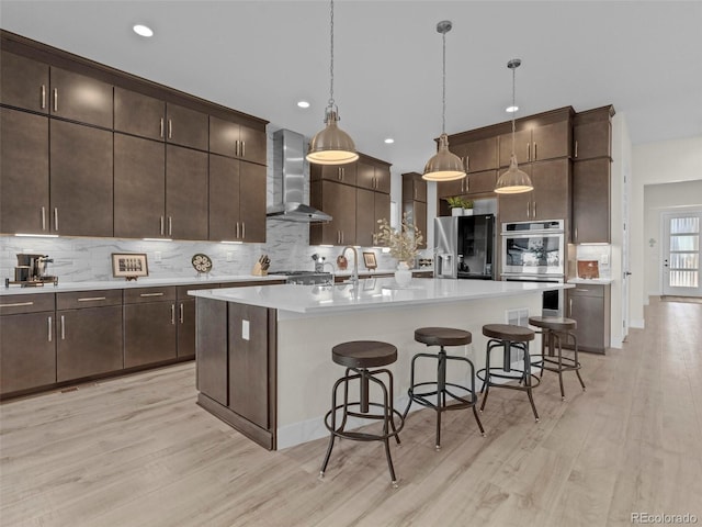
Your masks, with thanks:
[[[331,0],[330,34],[331,34],[331,60],[330,60],[330,87],[329,102],[325,111],[325,130],[318,132],[309,143],[307,160],[317,165],[344,165],[355,161],[359,155],[355,152],[353,139],[337,124],[339,122],[339,109],[333,102],[333,0]]]

